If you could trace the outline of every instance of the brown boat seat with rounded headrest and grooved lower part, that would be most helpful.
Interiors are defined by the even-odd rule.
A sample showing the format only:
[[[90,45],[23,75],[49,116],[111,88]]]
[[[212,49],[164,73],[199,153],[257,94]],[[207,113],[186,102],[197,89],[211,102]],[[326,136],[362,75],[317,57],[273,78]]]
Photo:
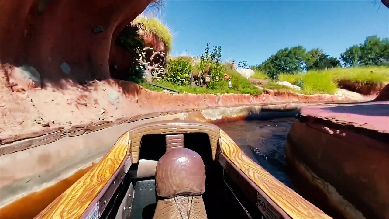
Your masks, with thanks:
[[[158,201],[153,219],[207,218],[202,196],[205,166],[193,150],[167,150],[157,163],[155,187]]]

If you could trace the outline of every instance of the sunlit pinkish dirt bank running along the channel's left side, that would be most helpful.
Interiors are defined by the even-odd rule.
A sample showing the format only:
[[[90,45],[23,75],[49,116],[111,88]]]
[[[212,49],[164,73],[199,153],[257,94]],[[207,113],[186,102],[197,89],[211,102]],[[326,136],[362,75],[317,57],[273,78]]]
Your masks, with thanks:
[[[12,92],[7,72],[15,70],[4,71],[3,68],[0,72],[0,145],[49,133],[56,133],[50,138],[55,141],[68,130],[76,131],[97,124],[109,127],[183,111],[284,102],[352,101],[345,96],[277,93],[256,97],[249,94],[172,95],[152,92],[135,83],[113,79],[89,81],[85,85],[63,81],[61,86],[65,89],[46,86],[44,89]],[[33,146],[26,142],[26,148],[29,147]],[[0,150],[0,155],[7,153],[12,151]]]

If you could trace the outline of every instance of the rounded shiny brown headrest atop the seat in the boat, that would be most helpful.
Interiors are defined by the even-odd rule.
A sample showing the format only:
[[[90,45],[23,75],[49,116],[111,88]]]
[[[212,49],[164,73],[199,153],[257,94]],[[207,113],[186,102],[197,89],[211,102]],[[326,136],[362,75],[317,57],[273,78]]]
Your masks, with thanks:
[[[158,196],[200,195],[205,191],[205,166],[199,154],[188,148],[175,148],[158,161],[155,174]]]

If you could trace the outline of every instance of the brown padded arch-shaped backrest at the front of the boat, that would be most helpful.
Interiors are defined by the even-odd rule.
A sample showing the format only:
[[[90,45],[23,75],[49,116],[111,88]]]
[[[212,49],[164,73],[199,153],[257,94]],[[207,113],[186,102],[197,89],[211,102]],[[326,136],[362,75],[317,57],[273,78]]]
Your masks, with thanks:
[[[217,125],[187,120],[150,122],[130,129],[129,133],[130,147],[128,154],[131,155],[133,163],[137,163],[139,161],[140,142],[144,135],[206,133],[209,136],[212,159],[215,159],[217,144],[220,138],[220,128],[217,127]]]

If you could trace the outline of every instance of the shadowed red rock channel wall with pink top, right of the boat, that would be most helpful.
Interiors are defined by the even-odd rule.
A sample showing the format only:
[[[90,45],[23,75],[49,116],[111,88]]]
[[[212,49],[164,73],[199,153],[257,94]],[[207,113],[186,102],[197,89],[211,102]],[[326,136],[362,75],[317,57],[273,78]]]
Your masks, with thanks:
[[[389,101],[383,101],[301,108],[286,156],[312,194],[342,217],[388,218],[388,149]]]

